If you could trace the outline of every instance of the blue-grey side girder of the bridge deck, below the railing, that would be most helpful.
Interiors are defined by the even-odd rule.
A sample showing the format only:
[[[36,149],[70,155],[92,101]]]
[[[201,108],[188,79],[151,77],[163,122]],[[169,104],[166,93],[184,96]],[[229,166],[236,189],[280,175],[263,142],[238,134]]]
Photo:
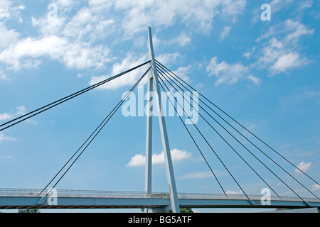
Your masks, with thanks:
[[[161,209],[170,206],[170,199],[146,198],[66,198],[58,197],[58,203],[48,204],[41,197],[0,197],[0,209]],[[308,208],[320,207],[320,202],[271,201],[262,205],[259,200],[241,199],[179,199],[181,208]]]

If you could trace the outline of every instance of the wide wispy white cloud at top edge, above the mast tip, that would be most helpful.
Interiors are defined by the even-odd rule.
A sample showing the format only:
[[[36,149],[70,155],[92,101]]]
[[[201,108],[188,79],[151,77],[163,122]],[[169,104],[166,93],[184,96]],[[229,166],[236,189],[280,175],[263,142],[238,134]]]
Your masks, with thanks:
[[[185,23],[196,31],[208,33],[212,28],[213,18],[235,18],[245,9],[245,0],[228,1],[116,1],[114,9],[125,11],[122,26],[128,33],[142,31],[146,26],[172,26]],[[220,6],[220,7],[219,7]]]

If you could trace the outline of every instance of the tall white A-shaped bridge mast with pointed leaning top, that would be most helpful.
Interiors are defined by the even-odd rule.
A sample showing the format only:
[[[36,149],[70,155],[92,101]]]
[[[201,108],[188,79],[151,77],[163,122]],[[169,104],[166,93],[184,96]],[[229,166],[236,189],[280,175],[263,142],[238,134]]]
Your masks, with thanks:
[[[174,167],[172,165],[169,139],[166,131],[166,121],[163,113],[163,106],[161,102],[161,93],[159,88],[159,78],[158,72],[156,70],[156,60],[154,57],[154,46],[152,42],[152,33],[151,28],[149,27],[149,60],[151,61],[151,73],[148,77],[148,111],[149,115],[146,116],[146,192],[151,194],[151,165],[152,165],[152,114],[150,110],[151,102],[151,92],[152,85],[154,85],[155,95],[156,95],[156,104],[158,109],[159,116],[159,125],[161,132],[162,148],[164,150],[164,160],[166,164],[166,176],[169,184],[169,194],[171,200],[171,209],[174,213],[180,213],[180,207],[178,204],[178,194],[176,191],[176,181],[174,179]]]

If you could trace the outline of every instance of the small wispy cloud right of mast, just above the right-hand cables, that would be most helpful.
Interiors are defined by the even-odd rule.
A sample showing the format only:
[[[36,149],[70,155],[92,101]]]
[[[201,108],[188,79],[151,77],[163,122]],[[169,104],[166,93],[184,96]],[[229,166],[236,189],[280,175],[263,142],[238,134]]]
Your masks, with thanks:
[[[227,62],[218,62],[218,57],[213,57],[207,67],[208,76],[218,77],[216,86],[220,84],[235,84],[249,71],[248,67],[241,64],[230,65]]]

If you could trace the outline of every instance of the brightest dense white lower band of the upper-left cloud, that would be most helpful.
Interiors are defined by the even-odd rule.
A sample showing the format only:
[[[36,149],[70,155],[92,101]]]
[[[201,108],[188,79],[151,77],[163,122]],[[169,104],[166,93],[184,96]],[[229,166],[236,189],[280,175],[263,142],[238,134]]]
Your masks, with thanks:
[[[92,48],[89,43],[70,43],[64,38],[51,35],[18,41],[16,45],[0,52],[0,62],[5,62],[13,70],[21,70],[38,67],[39,57],[50,57],[69,68],[99,68],[109,61],[108,54],[109,50],[102,46]]]

